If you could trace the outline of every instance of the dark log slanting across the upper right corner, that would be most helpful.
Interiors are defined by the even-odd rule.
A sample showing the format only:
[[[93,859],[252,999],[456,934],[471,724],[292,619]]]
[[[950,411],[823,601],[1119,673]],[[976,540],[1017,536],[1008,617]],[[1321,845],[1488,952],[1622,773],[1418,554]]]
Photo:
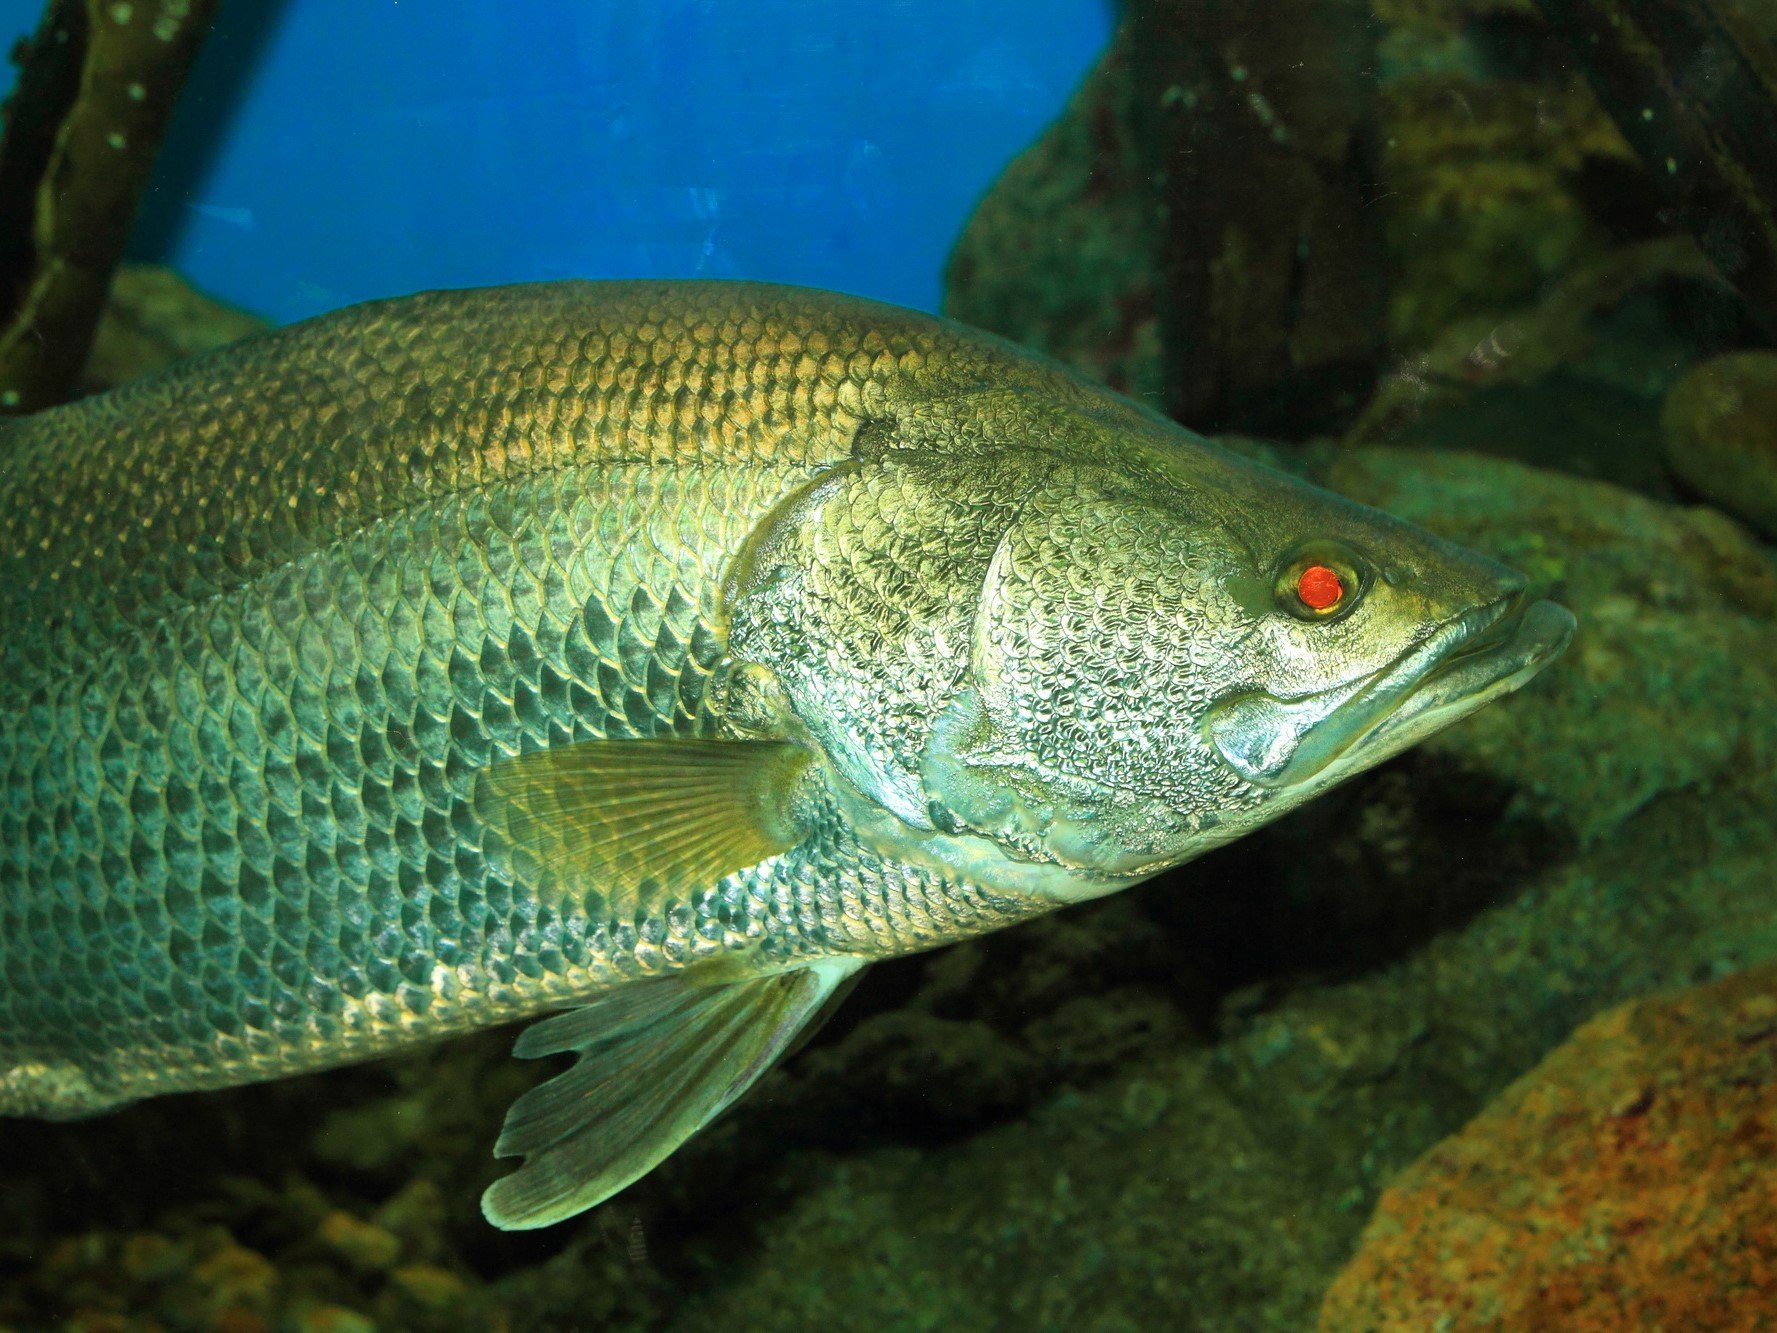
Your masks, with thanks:
[[[1777,332],[1777,57],[1733,0],[1539,0],[1677,220]]]

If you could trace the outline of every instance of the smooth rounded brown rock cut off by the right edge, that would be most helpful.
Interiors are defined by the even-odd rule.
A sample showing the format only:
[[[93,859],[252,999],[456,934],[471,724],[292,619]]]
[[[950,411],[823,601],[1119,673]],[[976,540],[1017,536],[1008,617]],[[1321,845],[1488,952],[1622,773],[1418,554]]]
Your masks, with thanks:
[[[1695,366],[1672,386],[1660,425],[1674,473],[1777,540],[1777,354]]]

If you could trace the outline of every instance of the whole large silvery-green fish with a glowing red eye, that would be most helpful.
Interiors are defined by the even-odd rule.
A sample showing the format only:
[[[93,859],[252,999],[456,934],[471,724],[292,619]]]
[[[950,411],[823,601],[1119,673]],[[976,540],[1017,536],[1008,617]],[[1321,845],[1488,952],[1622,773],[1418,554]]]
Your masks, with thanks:
[[[1516,688],[1525,581],[791,288],[339,311],[0,427],[0,1113],[560,1011],[485,1196],[656,1166],[874,958]]]

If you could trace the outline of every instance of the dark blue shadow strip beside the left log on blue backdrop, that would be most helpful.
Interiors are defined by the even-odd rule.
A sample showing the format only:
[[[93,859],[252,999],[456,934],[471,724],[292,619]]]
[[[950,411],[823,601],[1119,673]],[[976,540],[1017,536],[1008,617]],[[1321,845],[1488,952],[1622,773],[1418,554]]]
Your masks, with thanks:
[[[227,128],[288,7],[290,0],[222,5],[142,197],[130,238],[131,259],[165,261],[179,243],[190,222],[190,203],[203,196]]]

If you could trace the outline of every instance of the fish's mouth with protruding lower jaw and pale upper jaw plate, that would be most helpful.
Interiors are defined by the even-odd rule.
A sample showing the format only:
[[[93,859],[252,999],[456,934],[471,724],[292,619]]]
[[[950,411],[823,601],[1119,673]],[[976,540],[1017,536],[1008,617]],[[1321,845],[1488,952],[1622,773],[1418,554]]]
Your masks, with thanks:
[[[1224,700],[1205,730],[1249,782],[1320,789],[1518,690],[1560,656],[1573,631],[1571,611],[1526,603],[1518,588],[1439,626],[1359,681],[1303,698]]]

